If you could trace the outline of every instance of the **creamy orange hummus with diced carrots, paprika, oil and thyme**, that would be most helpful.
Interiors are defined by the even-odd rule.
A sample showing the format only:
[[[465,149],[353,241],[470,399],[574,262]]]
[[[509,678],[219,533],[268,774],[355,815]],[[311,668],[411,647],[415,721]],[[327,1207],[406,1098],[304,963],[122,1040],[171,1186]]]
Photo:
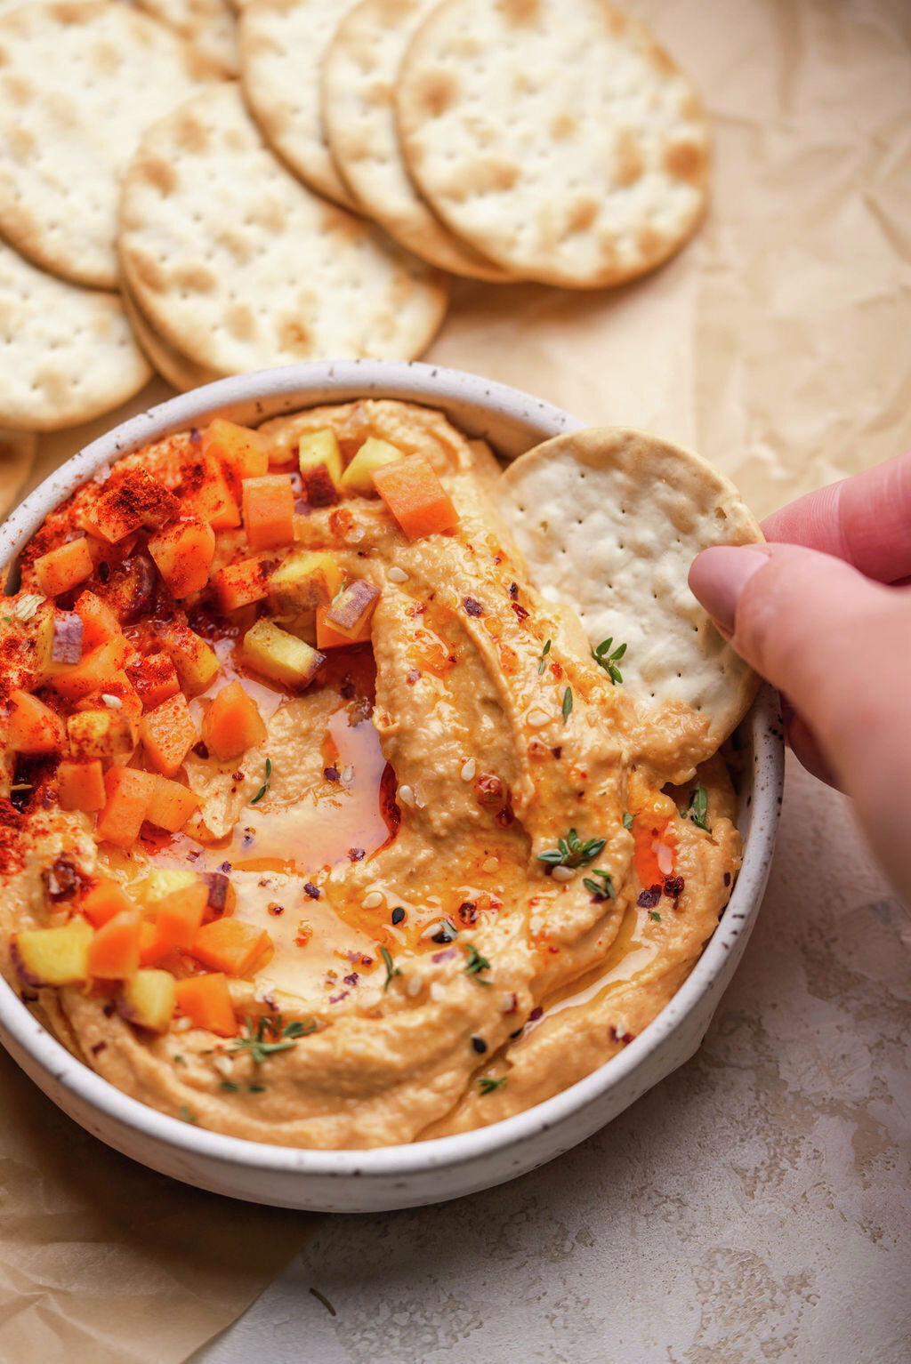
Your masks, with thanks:
[[[739,866],[727,767],[539,596],[496,477],[408,404],[215,420],[20,555],[0,963],[119,1088],[420,1140],[571,1084],[691,970]]]

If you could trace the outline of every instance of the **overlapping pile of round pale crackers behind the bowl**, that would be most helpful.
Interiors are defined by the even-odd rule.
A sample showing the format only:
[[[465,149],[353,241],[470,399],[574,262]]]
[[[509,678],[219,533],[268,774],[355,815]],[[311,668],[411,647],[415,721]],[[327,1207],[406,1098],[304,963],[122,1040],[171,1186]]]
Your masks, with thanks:
[[[237,3],[0,0],[0,423],[413,359],[453,274],[601,288],[700,221],[697,94],[607,0]]]

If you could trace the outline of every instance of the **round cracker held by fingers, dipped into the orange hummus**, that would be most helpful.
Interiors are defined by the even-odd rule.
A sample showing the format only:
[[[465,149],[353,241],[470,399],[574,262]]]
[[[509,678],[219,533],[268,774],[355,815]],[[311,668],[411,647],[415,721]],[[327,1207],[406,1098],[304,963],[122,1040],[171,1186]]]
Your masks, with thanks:
[[[516,460],[496,505],[541,593],[576,607],[592,647],[626,644],[626,689],[649,708],[700,712],[715,752],[758,682],[686,580],[700,550],[762,542],[734,484],[657,436],[597,427]]]

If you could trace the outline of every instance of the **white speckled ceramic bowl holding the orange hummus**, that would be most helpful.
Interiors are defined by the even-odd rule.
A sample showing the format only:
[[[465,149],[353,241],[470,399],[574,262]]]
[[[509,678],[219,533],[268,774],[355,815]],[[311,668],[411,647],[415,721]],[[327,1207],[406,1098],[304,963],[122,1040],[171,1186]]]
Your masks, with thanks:
[[[0,527],[0,563],[48,512],[104,464],[215,415],[256,424],[319,402],[371,396],[440,408],[506,456],[580,427],[517,389],[427,364],[361,360],[289,366],[222,379],[162,402],[67,461]],[[155,1170],[235,1198],[284,1207],[365,1213],[415,1207],[491,1188],[576,1146],[698,1048],[746,947],[769,873],[784,754],[777,704],[764,690],[741,727],[746,749],[739,827],[743,868],[717,932],[691,975],[625,1050],[537,1108],[458,1136],[372,1151],[301,1151],[220,1136],[128,1098],[75,1060],[0,981],[0,1041],[70,1117]]]

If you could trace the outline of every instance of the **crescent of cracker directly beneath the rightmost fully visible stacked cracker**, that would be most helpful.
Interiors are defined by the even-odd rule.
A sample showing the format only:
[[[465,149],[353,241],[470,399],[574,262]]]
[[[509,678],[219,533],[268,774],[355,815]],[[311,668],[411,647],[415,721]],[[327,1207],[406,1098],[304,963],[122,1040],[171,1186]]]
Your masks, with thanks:
[[[424,261],[475,280],[514,276],[455,237],[405,169],[395,127],[395,82],[419,25],[438,0],[363,0],[338,26],[323,61],[323,125],[361,207]]]

